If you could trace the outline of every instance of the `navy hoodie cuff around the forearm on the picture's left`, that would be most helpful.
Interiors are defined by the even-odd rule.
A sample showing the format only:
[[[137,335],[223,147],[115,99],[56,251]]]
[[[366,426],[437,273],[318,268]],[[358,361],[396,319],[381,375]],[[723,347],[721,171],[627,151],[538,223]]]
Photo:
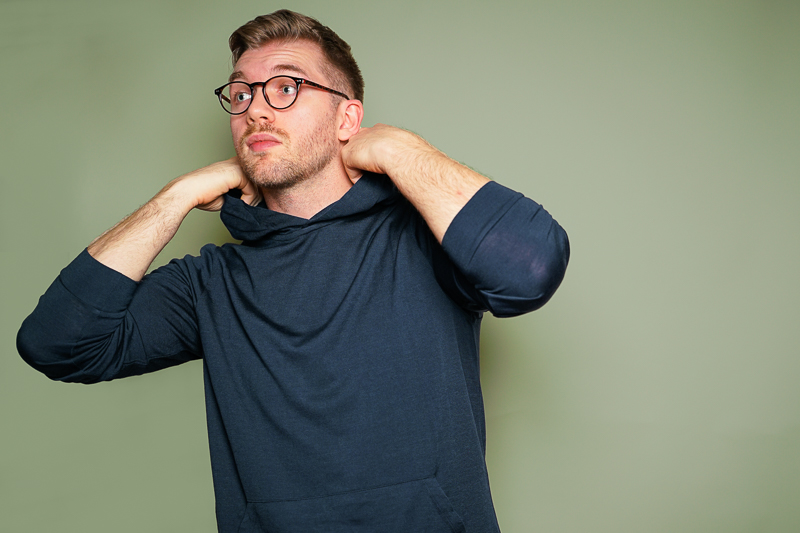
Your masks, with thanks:
[[[81,302],[108,313],[124,311],[138,286],[92,257],[87,249],[61,271],[58,279]]]

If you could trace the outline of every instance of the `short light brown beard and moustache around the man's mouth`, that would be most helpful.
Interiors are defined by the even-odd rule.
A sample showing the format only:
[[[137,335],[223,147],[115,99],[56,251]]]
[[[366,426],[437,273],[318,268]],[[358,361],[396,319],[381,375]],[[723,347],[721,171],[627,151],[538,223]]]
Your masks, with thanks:
[[[250,124],[239,142],[236,155],[245,176],[259,187],[288,189],[319,174],[338,153],[338,141],[330,120],[322,120],[317,127],[292,141],[286,131],[268,122]],[[282,156],[267,152],[251,152],[245,139],[253,133],[267,133],[277,137],[285,153]],[[281,147],[276,147],[280,149]]]

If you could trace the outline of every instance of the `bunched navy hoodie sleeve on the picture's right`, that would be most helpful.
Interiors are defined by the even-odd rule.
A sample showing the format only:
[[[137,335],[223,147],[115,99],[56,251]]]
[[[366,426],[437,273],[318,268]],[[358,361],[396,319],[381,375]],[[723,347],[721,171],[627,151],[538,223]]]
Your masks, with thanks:
[[[437,264],[443,288],[467,309],[498,317],[543,306],[569,261],[569,241],[558,222],[541,205],[495,182],[456,215],[442,248],[456,267]]]

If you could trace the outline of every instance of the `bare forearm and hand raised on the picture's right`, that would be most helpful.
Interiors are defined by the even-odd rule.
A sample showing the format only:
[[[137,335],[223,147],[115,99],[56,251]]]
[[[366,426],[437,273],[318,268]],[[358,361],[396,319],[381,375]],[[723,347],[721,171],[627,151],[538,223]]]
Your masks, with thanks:
[[[355,183],[363,171],[386,174],[441,243],[450,222],[489,179],[453,161],[422,137],[385,124],[362,128],[342,149]]]

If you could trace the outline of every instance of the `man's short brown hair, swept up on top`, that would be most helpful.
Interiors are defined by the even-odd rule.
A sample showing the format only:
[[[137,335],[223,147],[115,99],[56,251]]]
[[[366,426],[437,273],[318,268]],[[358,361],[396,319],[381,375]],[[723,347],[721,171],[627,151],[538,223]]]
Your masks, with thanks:
[[[236,68],[236,62],[248,50],[274,41],[296,40],[317,44],[327,61],[322,65],[323,73],[330,78],[334,87],[351,98],[364,101],[364,78],[350,45],[317,19],[288,9],[256,17],[233,32],[228,39],[231,61]]]

